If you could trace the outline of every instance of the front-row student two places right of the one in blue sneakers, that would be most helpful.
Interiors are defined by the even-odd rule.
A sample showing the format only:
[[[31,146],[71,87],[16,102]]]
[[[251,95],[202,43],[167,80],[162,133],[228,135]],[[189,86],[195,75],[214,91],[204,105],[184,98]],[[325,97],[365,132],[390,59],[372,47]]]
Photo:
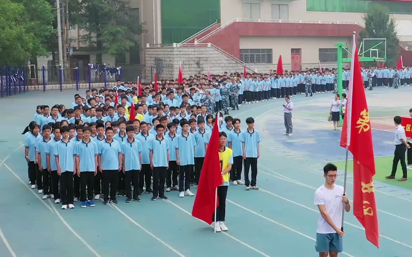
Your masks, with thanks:
[[[126,127],[127,139],[121,145],[123,167],[122,171],[126,180],[126,203],[139,199],[139,174],[142,169],[142,143],[135,139],[133,126]],[[131,184],[133,184],[133,198],[131,194]]]

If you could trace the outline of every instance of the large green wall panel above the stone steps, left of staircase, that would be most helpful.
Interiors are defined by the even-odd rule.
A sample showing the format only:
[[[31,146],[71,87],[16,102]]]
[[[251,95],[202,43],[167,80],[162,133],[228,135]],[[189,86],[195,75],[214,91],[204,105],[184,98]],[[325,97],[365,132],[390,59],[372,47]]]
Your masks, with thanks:
[[[220,22],[220,0],[162,0],[162,43],[180,43]]]

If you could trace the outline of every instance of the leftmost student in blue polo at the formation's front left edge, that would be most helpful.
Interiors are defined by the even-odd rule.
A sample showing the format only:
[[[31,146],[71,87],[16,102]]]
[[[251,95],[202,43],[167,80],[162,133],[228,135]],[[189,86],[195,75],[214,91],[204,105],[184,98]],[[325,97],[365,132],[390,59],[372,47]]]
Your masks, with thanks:
[[[29,132],[28,136],[26,139],[24,139],[24,156],[26,158],[26,161],[28,162],[28,171],[29,171],[29,177],[30,177],[30,184],[31,188],[35,189],[36,188],[36,178],[37,176],[41,176],[41,172],[38,170],[39,167],[37,165],[36,161],[36,146],[37,146],[37,136],[39,135],[40,132],[40,125],[37,123],[30,123],[29,124]],[[40,192],[39,189],[39,194],[43,192]]]

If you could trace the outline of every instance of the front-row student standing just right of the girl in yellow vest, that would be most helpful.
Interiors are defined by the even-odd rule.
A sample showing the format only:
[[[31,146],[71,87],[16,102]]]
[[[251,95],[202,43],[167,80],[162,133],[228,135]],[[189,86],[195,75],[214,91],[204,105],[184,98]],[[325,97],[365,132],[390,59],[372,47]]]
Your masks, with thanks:
[[[259,189],[256,186],[256,176],[258,175],[258,158],[260,157],[259,142],[260,134],[255,130],[255,120],[252,117],[246,119],[248,129],[243,132],[241,138],[243,160],[245,162],[245,185],[246,190]],[[249,182],[249,168],[252,169],[252,180]],[[249,186],[250,185],[250,186]]]

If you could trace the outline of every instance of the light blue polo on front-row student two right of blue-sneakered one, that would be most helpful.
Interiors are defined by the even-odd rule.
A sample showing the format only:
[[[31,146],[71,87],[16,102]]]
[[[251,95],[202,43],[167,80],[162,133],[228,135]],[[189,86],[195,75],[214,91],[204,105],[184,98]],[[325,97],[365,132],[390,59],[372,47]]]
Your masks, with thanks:
[[[126,139],[122,145],[122,155],[124,156],[124,170],[140,170],[140,153],[142,153],[142,143],[139,140],[133,138],[133,141],[130,143]]]

